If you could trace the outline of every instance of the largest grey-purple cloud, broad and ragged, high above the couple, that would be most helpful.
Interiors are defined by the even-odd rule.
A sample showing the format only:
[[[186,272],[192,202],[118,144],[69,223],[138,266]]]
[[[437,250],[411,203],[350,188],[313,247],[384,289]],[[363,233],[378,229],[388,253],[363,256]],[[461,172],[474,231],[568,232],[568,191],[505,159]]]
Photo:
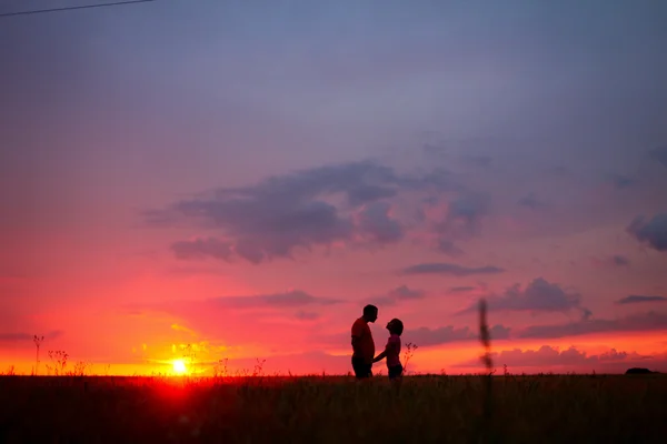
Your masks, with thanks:
[[[231,261],[238,256],[257,264],[291,258],[299,248],[398,242],[405,230],[391,218],[392,205],[387,200],[412,191],[460,192],[461,186],[440,169],[401,175],[389,167],[356,162],[271,176],[249,186],[218,189],[163,210],[145,211],[143,216],[155,226],[218,232],[175,242],[171,250],[178,259]],[[452,203],[452,218],[472,220],[479,211],[477,206],[467,208],[466,199]]]

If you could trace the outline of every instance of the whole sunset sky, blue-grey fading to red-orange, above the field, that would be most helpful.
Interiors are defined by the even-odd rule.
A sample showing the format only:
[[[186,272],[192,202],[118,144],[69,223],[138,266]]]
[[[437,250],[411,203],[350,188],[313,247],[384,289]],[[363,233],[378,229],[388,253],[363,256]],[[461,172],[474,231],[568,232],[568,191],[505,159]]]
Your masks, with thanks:
[[[98,3],[101,1],[98,1]],[[0,14],[96,1],[9,0]],[[0,371],[667,371],[667,3],[0,17]],[[190,349],[186,350],[187,344]],[[71,364],[70,364],[71,365]],[[385,372],[376,364],[375,372]]]

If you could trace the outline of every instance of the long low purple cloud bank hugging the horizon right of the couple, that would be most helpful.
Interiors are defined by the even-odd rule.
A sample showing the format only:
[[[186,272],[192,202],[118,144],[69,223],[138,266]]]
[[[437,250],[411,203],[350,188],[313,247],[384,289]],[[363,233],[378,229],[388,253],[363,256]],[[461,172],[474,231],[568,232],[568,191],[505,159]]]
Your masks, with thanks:
[[[633,363],[640,362],[643,366],[657,363],[664,365],[663,356],[640,355],[637,353],[628,353],[611,349],[605,353],[589,355],[586,352],[579,351],[575,346],[567,350],[560,350],[555,346],[542,345],[538,350],[504,350],[501,352],[491,353],[491,357],[496,365],[507,365],[511,372],[511,367],[590,367],[611,370],[623,372],[626,367],[633,366]],[[658,357],[659,360],[655,360]],[[478,365],[479,361],[471,360],[455,366],[474,366]]]

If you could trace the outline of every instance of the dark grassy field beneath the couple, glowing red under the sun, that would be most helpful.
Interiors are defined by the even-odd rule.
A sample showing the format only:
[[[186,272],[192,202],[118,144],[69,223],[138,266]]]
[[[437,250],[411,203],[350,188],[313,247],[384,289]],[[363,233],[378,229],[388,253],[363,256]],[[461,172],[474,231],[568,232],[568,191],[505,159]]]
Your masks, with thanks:
[[[488,382],[491,382],[490,392]],[[0,377],[2,443],[663,443],[664,375]]]

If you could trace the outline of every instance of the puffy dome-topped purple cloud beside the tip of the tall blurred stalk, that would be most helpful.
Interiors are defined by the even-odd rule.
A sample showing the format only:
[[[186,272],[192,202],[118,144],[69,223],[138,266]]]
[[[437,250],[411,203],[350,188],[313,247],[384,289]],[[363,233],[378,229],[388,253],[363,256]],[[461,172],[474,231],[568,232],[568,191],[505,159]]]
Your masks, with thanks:
[[[590,315],[587,309],[581,305],[581,295],[578,293],[566,292],[560,285],[550,283],[542,278],[532,280],[521,290],[519,284],[507,289],[500,296],[490,296],[488,299],[489,311],[527,311],[527,312],[568,312],[578,310],[585,317]],[[477,310],[477,304],[472,304],[459,312],[470,313]]]

